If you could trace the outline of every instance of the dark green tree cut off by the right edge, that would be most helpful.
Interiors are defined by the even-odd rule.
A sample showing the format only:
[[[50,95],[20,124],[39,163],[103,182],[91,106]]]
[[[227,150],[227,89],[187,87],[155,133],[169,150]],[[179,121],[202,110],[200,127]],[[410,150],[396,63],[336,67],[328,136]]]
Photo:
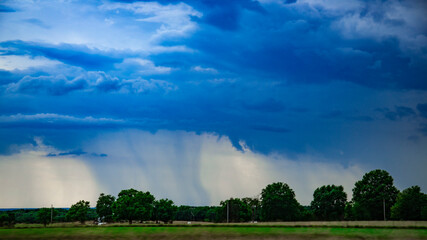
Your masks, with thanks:
[[[403,190],[397,196],[396,204],[391,208],[391,217],[398,220],[426,220],[422,210],[427,208],[427,195],[419,186]]]

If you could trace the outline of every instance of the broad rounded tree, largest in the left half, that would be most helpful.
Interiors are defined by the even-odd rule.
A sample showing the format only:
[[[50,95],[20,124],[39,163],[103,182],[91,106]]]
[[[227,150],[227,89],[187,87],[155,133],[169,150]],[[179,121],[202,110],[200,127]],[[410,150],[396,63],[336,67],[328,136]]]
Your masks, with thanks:
[[[153,211],[154,196],[150,192],[141,192],[133,188],[120,191],[113,204],[113,213],[117,219],[149,220]]]

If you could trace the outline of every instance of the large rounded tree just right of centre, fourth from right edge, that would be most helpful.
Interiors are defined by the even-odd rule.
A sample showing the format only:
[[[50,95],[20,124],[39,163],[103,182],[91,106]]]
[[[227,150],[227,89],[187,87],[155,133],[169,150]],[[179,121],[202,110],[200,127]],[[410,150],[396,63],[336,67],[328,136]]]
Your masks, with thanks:
[[[295,221],[301,217],[301,205],[286,183],[272,183],[261,192],[262,218],[265,221]]]

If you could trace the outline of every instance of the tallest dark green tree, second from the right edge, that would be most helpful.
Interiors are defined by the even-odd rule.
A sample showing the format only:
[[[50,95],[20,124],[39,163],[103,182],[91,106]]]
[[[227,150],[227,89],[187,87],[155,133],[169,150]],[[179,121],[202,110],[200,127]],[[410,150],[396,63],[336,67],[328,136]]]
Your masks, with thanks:
[[[396,202],[399,191],[393,185],[393,178],[384,170],[373,170],[357,181],[353,188],[353,209],[357,220],[383,219],[383,203],[386,218],[390,218],[390,209]]]

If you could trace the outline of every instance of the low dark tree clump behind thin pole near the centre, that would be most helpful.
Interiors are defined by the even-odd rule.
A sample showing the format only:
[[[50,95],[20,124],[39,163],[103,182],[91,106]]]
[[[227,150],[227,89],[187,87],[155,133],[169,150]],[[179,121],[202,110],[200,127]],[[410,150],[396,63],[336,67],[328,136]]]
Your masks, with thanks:
[[[221,201],[221,220],[227,221],[227,207],[229,222],[248,222],[252,218],[251,207],[239,198],[230,198],[226,201]]]

